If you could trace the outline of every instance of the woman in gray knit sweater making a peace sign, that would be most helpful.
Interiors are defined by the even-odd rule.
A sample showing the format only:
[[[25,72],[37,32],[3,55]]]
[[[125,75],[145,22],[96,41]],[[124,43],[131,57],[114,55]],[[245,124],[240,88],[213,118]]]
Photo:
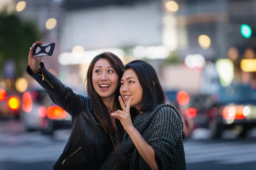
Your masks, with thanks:
[[[119,102],[122,111],[111,113],[125,129],[122,153],[130,158],[130,170],[186,170],[183,122],[165,94],[154,68],[135,60],[125,66]],[[125,106],[126,105],[126,106]],[[140,114],[131,121],[130,107]]]

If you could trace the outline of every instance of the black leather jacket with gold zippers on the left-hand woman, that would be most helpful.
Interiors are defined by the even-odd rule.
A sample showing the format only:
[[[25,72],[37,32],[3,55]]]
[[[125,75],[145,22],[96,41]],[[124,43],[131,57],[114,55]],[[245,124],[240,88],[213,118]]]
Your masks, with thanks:
[[[73,120],[70,138],[53,169],[127,169],[129,162],[120,151],[121,143],[117,144],[114,136],[104,133],[93,116],[90,99],[75,94],[71,88],[65,86],[48,71],[42,62],[40,65],[42,69],[37,74],[34,74],[29,66],[27,73],[47,91],[52,102],[67,111]]]

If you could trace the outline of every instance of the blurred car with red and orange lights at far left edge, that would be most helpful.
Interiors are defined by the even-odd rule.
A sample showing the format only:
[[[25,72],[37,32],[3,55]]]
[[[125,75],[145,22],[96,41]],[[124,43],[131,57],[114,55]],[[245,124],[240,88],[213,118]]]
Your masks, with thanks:
[[[20,99],[17,91],[0,89],[0,119],[20,118]]]

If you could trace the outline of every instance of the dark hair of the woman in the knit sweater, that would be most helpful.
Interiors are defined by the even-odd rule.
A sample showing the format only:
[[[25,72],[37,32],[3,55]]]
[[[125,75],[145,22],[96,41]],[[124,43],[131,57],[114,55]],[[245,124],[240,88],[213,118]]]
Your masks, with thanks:
[[[134,60],[125,65],[125,70],[129,68],[137,74],[142,87],[140,111],[153,111],[157,105],[166,102],[165,93],[152,65],[142,60]]]

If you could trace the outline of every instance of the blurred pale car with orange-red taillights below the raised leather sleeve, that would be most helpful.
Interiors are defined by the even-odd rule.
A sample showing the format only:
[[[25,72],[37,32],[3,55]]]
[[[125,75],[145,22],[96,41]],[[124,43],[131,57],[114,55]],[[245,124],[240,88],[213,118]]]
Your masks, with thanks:
[[[24,92],[20,116],[26,131],[39,130],[52,135],[54,130],[72,127],[70,114],[55,105],[41,88]]]

